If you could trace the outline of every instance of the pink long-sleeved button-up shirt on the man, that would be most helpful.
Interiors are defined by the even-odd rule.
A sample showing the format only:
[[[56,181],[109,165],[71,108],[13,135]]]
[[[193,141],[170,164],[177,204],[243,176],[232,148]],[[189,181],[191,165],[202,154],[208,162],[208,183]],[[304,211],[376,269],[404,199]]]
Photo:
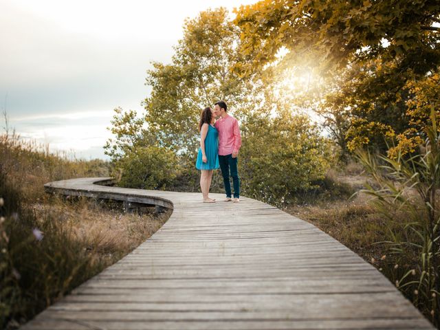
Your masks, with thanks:
[[[232,115],[227,115],[215,122],[215,128],[219,131],[219,155],[230,155],[233,151],[240,150],[241,135],[238,120]]]

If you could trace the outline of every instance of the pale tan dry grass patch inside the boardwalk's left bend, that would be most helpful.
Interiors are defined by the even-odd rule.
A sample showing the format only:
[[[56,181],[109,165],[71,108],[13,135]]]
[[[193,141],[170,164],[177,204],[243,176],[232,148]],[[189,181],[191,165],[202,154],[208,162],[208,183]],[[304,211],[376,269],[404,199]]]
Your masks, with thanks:
[[[55,200],[54,200],[55,199]],[[104,267],[118,261],[154,234],[170,217],[171,211],[144,214],[126,213],[115,203],[96,203],[90,199],[63,201],[55,197],[51,203],[32,205],[37,219],[56,219],[94,259],[102,259]]]

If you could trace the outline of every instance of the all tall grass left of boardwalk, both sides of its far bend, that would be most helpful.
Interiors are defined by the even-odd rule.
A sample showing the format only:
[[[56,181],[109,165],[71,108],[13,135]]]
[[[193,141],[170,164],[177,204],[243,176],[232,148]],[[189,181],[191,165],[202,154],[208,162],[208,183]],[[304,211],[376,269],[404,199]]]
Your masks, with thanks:
[[[122,214],[43,191],[48,181],[107,176],[101,160],[49,153],[0,135],[0,328],[15,329],[151,236],[167,219]]]

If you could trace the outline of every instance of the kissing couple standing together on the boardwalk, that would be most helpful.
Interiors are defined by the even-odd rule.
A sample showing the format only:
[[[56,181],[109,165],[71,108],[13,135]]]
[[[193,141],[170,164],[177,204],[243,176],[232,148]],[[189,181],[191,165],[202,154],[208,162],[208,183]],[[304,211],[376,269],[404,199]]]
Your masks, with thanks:
[[[237,169],[237,156],[241,146],[239,122],[228,115],[227,111],[228,107],[223,101],[217,102],[213,110],[207,107],[201,111],[200,149],[195,167],[201,170],[200,188],[204,203],[215,202],[208,194],[212,172],[219,167],[225,184],[225,201],[240,201],[240,177]],[[231,198],[230,176],[234,183],[234,199]]]

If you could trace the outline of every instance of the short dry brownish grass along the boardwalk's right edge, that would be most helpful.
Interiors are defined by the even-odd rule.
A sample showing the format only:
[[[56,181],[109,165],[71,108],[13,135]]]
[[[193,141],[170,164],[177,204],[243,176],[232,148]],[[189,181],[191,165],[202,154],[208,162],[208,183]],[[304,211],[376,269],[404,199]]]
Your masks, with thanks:
[[[340,174],[341,175],[341,174]],[[344,182],[353,182],[352,186],[358,186],[362,180],[359,175],[344,174]],[[362,176],[361,176],[362,177]],[[366,177],[363,181],[366,181]],[[414,195],[409,190],[408,194]],[[399,254],[391,250],[391,245],[381,243],[393,241],[395,235],[397,241],[408,240],[408,232],[404,230],[406,217],[405,210],[389,210],[393,214],[392,219],[384,216],[375,208],[363,194],[358,194],[352,200],[340,199],[335,201],[319,201],[309,205],[292,205],[286,211],[309,223],[316,225],[334,239],[346,245],[347,248],[358,254],[366,262],[371,263],[388,280],[401,290],[401,293],[410,300],[429,320],[432,320],[430,310],[426,308],[426,299],[412,287],[400,287],[401,279],[406,276],[408,270],[412,274],[406,276],[406,281],[417,281],[421,276],[421,268],[417,253],[407,250],[405,254]],[[392,234],[391,234],[392,232]],[[415,238],[417,239],[417,237]],[[413,240],[416,241],[416,240]]]

